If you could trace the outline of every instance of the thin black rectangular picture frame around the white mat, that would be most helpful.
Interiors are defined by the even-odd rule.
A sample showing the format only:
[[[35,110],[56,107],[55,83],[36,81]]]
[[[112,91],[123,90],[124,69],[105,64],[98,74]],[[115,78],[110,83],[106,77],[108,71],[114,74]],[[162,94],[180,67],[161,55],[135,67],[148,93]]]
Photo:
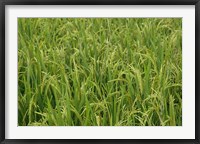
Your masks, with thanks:
[[[5,7],[6,5],[195,5],[195,139],[6,139],[5,138]],[[21,143],[166,143],[200,144],[200,0],[0,0],[0,142]]]

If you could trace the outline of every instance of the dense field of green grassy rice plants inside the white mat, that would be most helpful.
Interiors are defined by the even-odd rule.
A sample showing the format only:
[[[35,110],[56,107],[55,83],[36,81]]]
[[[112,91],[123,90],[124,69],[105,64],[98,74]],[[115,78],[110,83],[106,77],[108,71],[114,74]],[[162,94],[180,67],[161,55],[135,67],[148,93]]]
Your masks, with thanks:
[[[182,19],[18,18],[19,126],[181,126]]]

